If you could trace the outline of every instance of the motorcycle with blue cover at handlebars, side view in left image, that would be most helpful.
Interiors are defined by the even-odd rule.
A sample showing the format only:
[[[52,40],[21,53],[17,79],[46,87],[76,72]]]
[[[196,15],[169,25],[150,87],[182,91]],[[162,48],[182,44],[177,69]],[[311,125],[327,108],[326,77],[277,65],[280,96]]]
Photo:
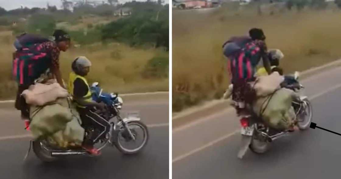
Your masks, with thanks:
[[[103,135],[104,137],[99,138],[95,145],[100,145],[98,148],[102,150],[107,144],[115,146],[123,154],[136,154],[140,152],[147,144],[149,139],[149,132],[147,126],[140,121],[138,115],[129,114],[127,118],[122,118],[120,115],[120,109],[122,109],[123,100],[118,94],[104,93],[103,90],[98,86],[98,83],[93,83],[91,87],[93,93],[93,100],[96,102],[103,102],[106,105],[106,110],[97,110],[95,113],[108,119],[107,122],[110,124],[110,130]],[[68,101],[72,99],[68,97]],[[116,121],[114,118],[116,117]],[[100,136],[101,129],[93,128],[93,126],[84,126],[85,137],[91,135]],[[138,130],[142,131],[142,134],[138,134]],[[136,144],[140,139],[140,144],[129,148],[130,144]],[[125,144],[128,144],[127,146]],[[44,162],[53,162],[59,159],[61,156],[69,155],[88,155],[91,156],[87,151],[78,148],[62,149],[57,146],[51,145],[44,138],[38,138],[32,141],[30,144],[29,151],[33,148],[35,155]],[[29,153],[27,152],[27,155]],[[26,155],[26,157],[27,157]],[[25,158],[26,158],[25,157]]]

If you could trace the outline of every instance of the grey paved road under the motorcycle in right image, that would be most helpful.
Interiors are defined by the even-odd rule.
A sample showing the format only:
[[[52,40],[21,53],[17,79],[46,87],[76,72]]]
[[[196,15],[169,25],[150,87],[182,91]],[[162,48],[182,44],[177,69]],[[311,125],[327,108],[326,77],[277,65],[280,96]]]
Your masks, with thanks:
[[[312,101],[313,122],[341,132],[341,68],[303,80]],[[237,158],[240,124],[234,110],[173,129],[173,178],[336,178],[341,136],[319,129],[293,133],[264,155]]]

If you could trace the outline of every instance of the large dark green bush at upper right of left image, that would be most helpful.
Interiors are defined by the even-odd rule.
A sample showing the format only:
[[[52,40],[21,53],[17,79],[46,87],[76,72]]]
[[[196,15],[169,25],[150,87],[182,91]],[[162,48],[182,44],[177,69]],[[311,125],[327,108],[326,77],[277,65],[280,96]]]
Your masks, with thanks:
[[[146,2],[146,4],[150,3]],[[168,22],[168,9],[163,6],[153,4],[153,6],[134,7],[131,16],[105,25],[102,28],[102,39],[113,39],[131,46],[149,44],[155,48],[168,49]]]

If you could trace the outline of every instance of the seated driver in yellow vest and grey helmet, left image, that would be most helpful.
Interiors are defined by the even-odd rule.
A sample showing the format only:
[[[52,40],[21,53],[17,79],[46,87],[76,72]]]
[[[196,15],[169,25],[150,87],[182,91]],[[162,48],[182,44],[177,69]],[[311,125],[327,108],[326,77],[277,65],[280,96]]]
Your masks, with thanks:
[[[109,131],[110,124],[100,115],[94,113],[94,107],[103,110],[104,103],[97,103],[91,99],[91,91],[85,76],[90,71],[91,62],[86,57],[77,57],[72,63],[72,71],[69,76],[69,93],[73,96],[77,111],[80,115],[82,126],[95,126],[103,129],[100,134],[93,133],[89,138],[85,136],[82,147],[92,155],[100,155],[100,151],[93,147],[98,138],[103,137]]]

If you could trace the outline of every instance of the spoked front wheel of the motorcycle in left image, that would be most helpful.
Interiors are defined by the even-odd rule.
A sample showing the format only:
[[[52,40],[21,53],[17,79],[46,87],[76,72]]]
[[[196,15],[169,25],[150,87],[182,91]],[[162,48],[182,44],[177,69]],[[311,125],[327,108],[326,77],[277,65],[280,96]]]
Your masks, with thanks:
[[[128,128],[134,135],[133,139],[127,129],[122,127],[115,132],[114,144],[123,154],[135,154],[140,152],[148,143],[149,132],[147,126],[140,121],[128,122]]]

